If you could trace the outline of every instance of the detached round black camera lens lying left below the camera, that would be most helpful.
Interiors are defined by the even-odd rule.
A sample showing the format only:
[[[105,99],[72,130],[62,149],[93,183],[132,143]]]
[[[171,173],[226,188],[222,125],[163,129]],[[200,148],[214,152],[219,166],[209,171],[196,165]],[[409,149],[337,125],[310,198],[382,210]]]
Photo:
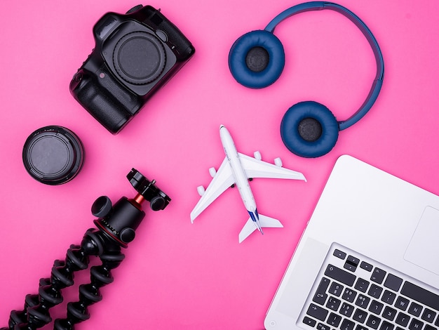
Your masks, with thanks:
[[[46,185],[61,185],[79,173],[84,152],[75,133],[62,126],[45,126],[27,138],[22,157],[32,178]]]

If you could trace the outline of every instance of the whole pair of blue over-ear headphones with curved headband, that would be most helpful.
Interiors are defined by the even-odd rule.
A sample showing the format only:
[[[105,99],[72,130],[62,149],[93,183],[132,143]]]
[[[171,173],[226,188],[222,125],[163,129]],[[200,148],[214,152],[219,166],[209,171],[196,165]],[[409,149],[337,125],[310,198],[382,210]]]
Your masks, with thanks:
[[[301,157],[320,157],[330,152],[337,142],[339,131],[363,118],[377,100],[384,78],[384,60],[370,29],[357,15],[343,6],[331,2],[311,1],[283,11],[263,30],[244,34],[235,41],[229,53],[229,69],[239,84],[249,88],[269,86],[281,75],[285,64],[281,41],[273,34],[275,27],[292,15],[323,9],[341,13],[363,32],[377,62],[377,75],[366,100],[344,121],[337,121],[325,105],[314,101],[297,103],[288,109],[281,122],[281,137],[288,150]]]

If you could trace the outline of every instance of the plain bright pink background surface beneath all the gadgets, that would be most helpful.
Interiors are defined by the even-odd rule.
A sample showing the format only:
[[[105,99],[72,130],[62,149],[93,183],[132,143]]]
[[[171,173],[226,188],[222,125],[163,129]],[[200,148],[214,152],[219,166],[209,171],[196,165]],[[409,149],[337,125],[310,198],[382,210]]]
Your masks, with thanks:
[[[94,46],[92,27],[107,11],[136,2],[4,1],[0,20],[0,326],[21,310],[53,260],[64,259],[93,227],[90,206],[101,195],[113,202],[135,192],[132,167],[173,199],[165,211],[147,210],[114,283],[76,329],[263,329],[263,320],[325,181],[341,154],[389,171],[439,194],[439,2],[340,0],[372,29],[384,54],[385,76],[372,110],[342,131],[329,154],[303,159],[281,141],[288,108],[303,100],[346,119],[363,103],[374,77],[372,51],[358,29],[332,11],[284,21],[276,35],[285,70],[269,88],[244,88],[231,77],[229,48],[252,29],[263,29],[297,1],[150,1],[182,29],[196,48],[189,63],[118,135],[112,136],[69,93],[69,81]],[[258,179],[251,183],[259,212],[283,229],[251,235],[238,244],[248,218],[238,192],[225,192],[191,225],[196,187],[224,154],[219,125],[229,128],[244,154],[255,150],[307,183]],[[36,128],[61,125],[83,141],[79,176],[60,186],[32,179],[22,146]],[[403,225],[403,224],[401,224]],[[96,263],[92,258],[92,265]],[[88,270],[65,289],[76,301]],[[66,303],[51,310],[65,315]],[[52,325],[46,329],[52,329]]]

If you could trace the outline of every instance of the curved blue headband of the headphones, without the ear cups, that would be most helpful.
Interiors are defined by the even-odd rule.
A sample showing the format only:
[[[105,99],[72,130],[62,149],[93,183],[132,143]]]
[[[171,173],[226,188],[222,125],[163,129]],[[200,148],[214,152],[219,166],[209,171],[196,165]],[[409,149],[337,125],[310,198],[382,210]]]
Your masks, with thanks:
[[[275,27],[292,15],[296,15],[298,13],[304,13],[306,11],[321,11],[323,9],[330,9],[332,11],[337,11],[337,13],[341,13],[346,18],[349,18],[351,22],[353,22],[361,32],[363,32],[370,46],[372,47],[372,51],[375,56],[375,61],[377,62],[377,75],[372,84],[372,88],[370,88],[370,92],[367,95],[366,100],[360,106],[360,108],[351,116],[349,119],[345,121],[339,121],[339,130],[342,131],[345,128],[348,128],[359,121],[364,115],[370,110],[375,100],[377,100],[379,91],[381,90],[381,85],[384,78],[384,60],[381,50],[379,49],[377,40],[375,39],[370,29],[365,25],[365,23],[358,18],[357,15],[349,11],[348,8],[344,6],[340,6],[339,4],[334,4],[332,2],[325,1],[311,1],[306,2],[304,4],[298,4],[296,6],[292,6],[291,8],[286,9],[282,13],[278,14],[269,24],[265,27],[267,32],[273,33]]]

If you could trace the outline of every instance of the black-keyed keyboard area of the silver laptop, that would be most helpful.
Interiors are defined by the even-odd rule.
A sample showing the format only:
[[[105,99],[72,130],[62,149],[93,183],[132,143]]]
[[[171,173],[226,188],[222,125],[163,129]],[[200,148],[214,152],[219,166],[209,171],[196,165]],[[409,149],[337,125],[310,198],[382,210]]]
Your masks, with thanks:
[[[439,330],[438,294],[396,270],[333,244],[319,274],[302,310],[302,325],[318,330]]]

